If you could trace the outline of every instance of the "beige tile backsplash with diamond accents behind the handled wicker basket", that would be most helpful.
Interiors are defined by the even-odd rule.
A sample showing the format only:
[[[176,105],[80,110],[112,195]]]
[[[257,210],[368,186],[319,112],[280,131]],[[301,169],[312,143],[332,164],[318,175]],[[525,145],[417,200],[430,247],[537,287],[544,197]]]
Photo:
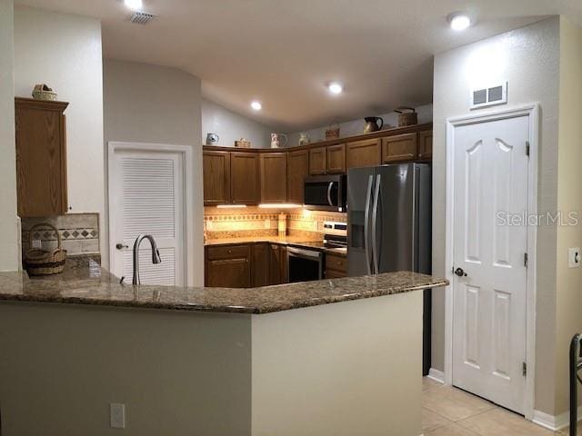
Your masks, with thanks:
[[[99,214],[67,213],[50,218],[22,219],[22,248],[28,250],[30,230],[37,223],[50,223],[58,229],[63,248],[68,255],[82,253],[99,253]],[[33,240],[41,240],[42,247],[51,250],[57,246],[55,232],[47,226],[36,228]]]

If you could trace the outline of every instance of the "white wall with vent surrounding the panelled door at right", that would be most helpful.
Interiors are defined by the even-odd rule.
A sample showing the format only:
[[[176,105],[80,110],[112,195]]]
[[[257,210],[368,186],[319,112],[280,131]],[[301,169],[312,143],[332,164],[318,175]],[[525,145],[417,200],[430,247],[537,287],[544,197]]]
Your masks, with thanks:
[[[445,274],[446,120],[468,114],[472,85],[507,80],[508,105],[541,105],[538,210],[557,210],[559,18],[465,45],[435,57],[433,273]],[[483,110],[483,111],[487,111]],[[536,409],[553,414],[556,226],[537,230]],[[444,368],[445,292],[433,298],[433,366]]]

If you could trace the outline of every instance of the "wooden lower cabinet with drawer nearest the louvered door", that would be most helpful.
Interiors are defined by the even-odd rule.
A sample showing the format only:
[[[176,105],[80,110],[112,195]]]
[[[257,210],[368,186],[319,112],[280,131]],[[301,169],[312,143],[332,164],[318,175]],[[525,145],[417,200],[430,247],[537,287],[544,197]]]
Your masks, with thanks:
[[[206,247],[206,286],[249,288],[250,259],[249,245]]]

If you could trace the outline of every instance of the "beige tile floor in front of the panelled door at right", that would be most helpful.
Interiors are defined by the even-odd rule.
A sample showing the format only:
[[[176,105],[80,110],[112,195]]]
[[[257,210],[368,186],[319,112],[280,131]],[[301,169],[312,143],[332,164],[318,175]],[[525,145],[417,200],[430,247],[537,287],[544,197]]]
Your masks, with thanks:
[[[566,435],[549,431],[465,391],[443,386],[425,377],[422,381],[422,430],[424,436],[546,436]],[[580,425],[582,427],[582,424]],[[578,429],[582,434],[582,429]]]

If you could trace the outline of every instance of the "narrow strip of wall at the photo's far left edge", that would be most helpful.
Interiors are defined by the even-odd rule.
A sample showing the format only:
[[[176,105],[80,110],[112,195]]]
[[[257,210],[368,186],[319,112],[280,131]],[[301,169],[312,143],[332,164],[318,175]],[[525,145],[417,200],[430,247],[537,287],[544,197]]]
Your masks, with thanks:
[[[14,5],[0,0],[0,271],[18,269],[14,89]]]

